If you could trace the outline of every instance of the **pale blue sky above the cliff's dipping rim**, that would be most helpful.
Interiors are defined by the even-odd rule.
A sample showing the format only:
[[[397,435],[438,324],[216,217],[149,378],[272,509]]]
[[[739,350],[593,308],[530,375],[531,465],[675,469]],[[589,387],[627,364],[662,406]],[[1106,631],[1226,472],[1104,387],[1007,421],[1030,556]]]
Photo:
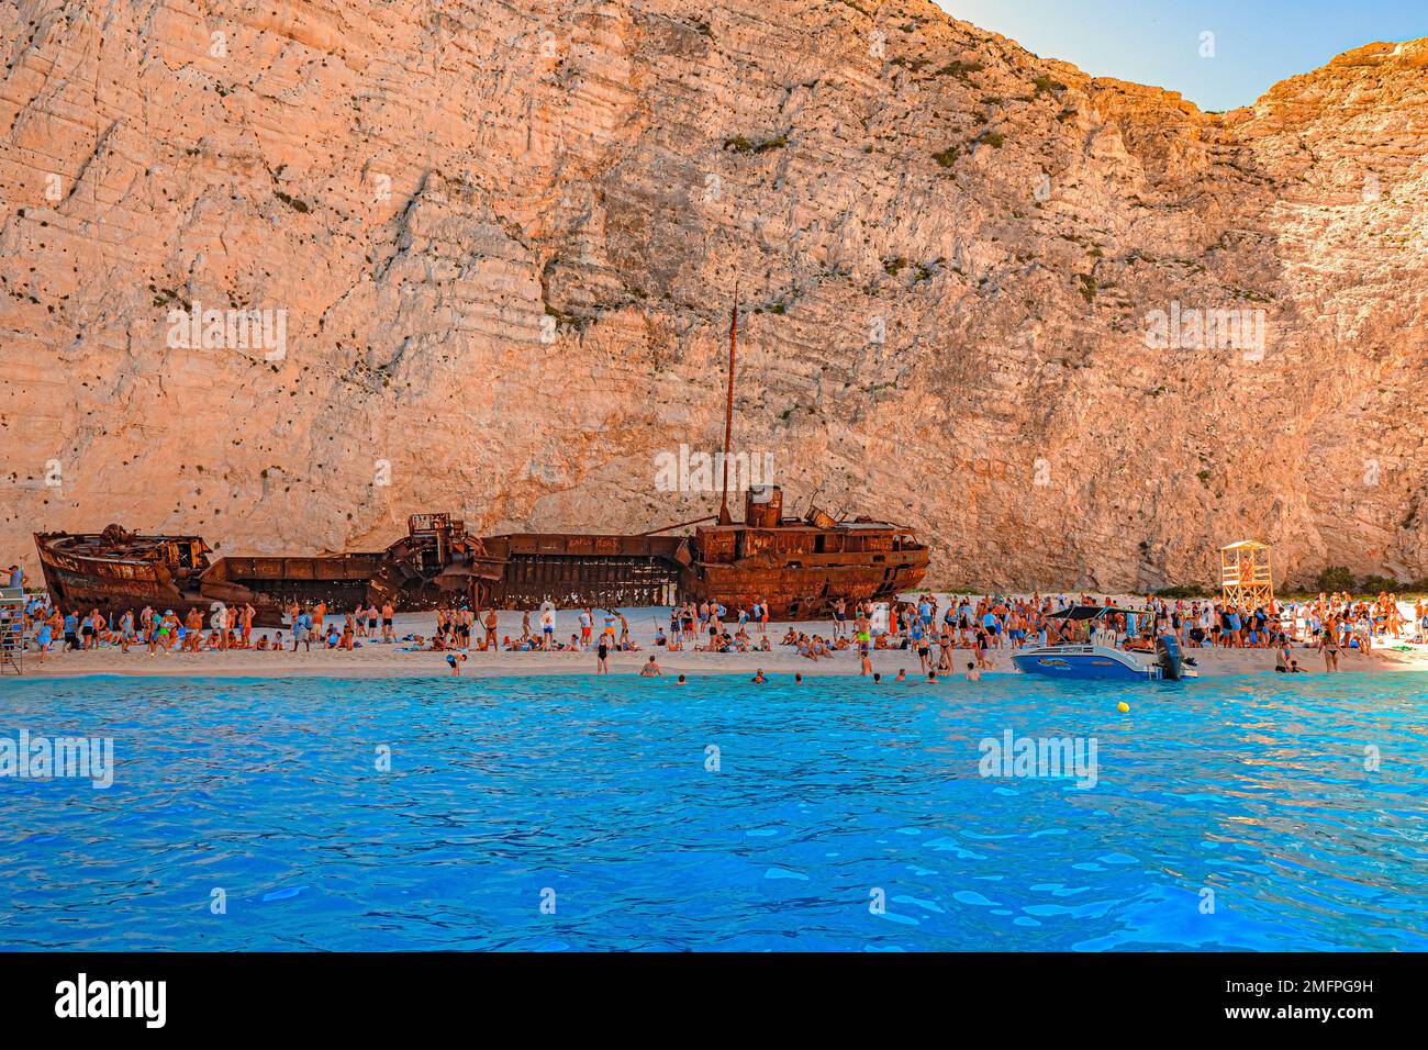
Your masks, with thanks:
[[[1428,0],[935,0],[1091,76],[1180,91],[1205,110],[1248,106],[1271,84],[1374,40],[1428,36]],[[1214,57],[1201,57],[1201,33]]]

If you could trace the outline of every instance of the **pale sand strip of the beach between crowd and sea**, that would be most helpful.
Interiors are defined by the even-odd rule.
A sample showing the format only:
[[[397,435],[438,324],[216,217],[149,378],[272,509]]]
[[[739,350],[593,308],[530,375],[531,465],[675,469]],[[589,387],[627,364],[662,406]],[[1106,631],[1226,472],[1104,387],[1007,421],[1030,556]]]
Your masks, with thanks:
[[[945,599],[944,599],[945,606]],[[631,633],[635,643],[643,646],[638,653],[611,653],[611,674],[635,674],[645,664],[650,654],[655,656],[661,671],[667,676],[703,676],[703,674],[753,674],[757,669],[764,669],[771,674],[825,676],[825,674],[858,674],[858,656],[854,650],[837,653],[833,659],[818,661],[800,657],[793,646],[780,646],[790,624],[770,623],[768,637],[773,644],[770,653],[697,653],[681,650],[665,653],[664,649],[654,647],[655,620],[668,623],[668,609],[637,609],[623,610],[630,620]],[[521,613],[506,611],[500,614],[498,634],[506,637],[520,637]],[[555,637],[570,639],[578,630],[578,610],[561,610],[557,614]],[[538,620],[533,614],[531,621],[538,630]],[[430,636],[434,616],[430,613],[398,614],[396,617],[397,637],[406,634]],[[831,637],[833,621],[803,621],[793,624],[797,630],[810,634]],[[257,639],[264,631],[254,629]],[[267,631],[271,636],[271,631]],[[311,651],[291,651],[291,637],[283,631],[287,640],[284,651],[258,650],[228,650],[201,653],[170,653],[161,651],[150,656],[147,649],[136,646],[129,653],[119,649],[100,649],[87,653],[64,653],[59,649],[50,651],[44,664],[39,663],[34,653],[27,653],[24,660],[24,677],[27,679],[60,679],[80,674],[167,674],[167,676],[231,676],[231,677],[290,677],[290,676],[330,676],[330,677],[410,677],[433,676],[450,677],[451,670],[446,661],[446,653],[433,651],[401,651],[410,643],[381,643],[363,639],[361,649],[353,651],[321,649],[317,644]],[[757,634],[754,636],[758,637]],[[937,649],[934,647],[934,657]],[[995,669],[984,674],[1017,674],[1010,660],[1011,650],[994,650],[992,661]],[[1187,650],[1200,664],[1204,677],[1224,674],[1274,674],[1272,649],[1195,649]],[[1294,657],[1309,674],[1324,674],[1324,659],[1307,647],[1295,647]],[[957,650],[954,666],[957,674],[972,660],[970,650]],[[1424,671],[1428,670],[1428,646],[1412,646],[1408,651],[1394,650],[1388,646],[1364,656],[1357,651],[1345,651],[1339,659],[1344,673],[1389,673],[1389,671]],[[910,676],[921,674],[917,653],[912,650],[881,650],[873,653],[873,669],[884,677],[892,677],[900,669],[905,669]],[[471,650],[468,659],[461,664],[463,677],[497,677],[517,674],[594,674],[595,654],[584,653],[520,653],[498,651],[481,653]],[[940,676],[941,677],[941,676]]]

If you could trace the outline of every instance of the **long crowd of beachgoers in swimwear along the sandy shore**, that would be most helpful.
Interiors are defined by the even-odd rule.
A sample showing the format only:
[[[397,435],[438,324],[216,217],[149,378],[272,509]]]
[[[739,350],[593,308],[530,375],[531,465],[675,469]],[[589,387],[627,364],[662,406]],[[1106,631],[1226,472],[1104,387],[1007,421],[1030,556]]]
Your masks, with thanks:
[[[10,579],[14,583],[16,573]],[[19,574],[23,586],[23,573]],[[945,600],[944,600],[945,599]],[[873,674],[871,656],[887,650],[917,653],[924,673],[952,671],[955,653],[968,650],[968,671],[997,669],[997,657],[1028,646],[1047,646],[1072,640],[1065,613],[1072,606],[1107,609],[1100,620],[1101,639],[1127,650],[1154,651],[1155,640],[1172,634],[1184,649],[1275,650],[1275,670],[1292,673],[1298,667],[1295,649],[1322,654],[1325,670],[1339,669],[1344,653],[1371,653],[1375,647],[1402,643],[1428,644],[1428,601],[1418,599],[1409,617],[1389,594],[1374,600],[1349,594],[1319,594],[1309,600],[1271,601],[1244,607],[1217,600],[1151,597],[1138,603],[1117,604],[1110,597],[1091,594],[1055,594],[1030,597],[932,593],[912,601],[848,603],[838,599],[830,609],[831,631],[787,627],[780,646],[818,663],[840,653],[860,657],[861,673]],[[521,617],[518,636],[500,634],[496,610],[461,606],[441,609],[430,634],[407,633],[400,639],[396,610],[390,603],[358,606],[333,613],[326,603],[291,603],[283,629],[258,631],[251,604],[213,603],[207,610],[190,607],[126,610],[107,616],[100,609],[61,610],[47,594],[29,596],[20,606],[21,636],[26,647],[44,663],[56,649],[90,651],[116,647],[134,649],[150,656],[224,650],[311,651],[314,644],[328,650],[354,650],[364,644],[398,644],[401,651],[440,651],[448,656],[453,673],[460,674],[468,653],[561,651],[595,653],[597,670],[608,671],[613,653],[641,650],[624,613],[577,609],[577,630],[568,640],[557,637],[557,610],[544,603],[540,610]],[[771,606],[767,600],[738,604],[734,610],[717,601],[687,601],[670,610],[668,626],[654,624],[653,646],[667,653],[770,653]]]

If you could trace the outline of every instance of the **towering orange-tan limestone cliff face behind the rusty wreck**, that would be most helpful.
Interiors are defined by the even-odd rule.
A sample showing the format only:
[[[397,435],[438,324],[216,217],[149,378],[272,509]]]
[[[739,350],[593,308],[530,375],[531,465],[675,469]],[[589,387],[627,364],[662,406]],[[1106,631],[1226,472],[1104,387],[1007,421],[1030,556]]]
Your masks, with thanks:
[[[938,586],[1210,581],[1247,536],[1428,576],[1428,41],[1214,116],[920,0],[20,0],[0,40],[0,563],[708,513],[655,457],[721,443],[738,280],[737,447]]]

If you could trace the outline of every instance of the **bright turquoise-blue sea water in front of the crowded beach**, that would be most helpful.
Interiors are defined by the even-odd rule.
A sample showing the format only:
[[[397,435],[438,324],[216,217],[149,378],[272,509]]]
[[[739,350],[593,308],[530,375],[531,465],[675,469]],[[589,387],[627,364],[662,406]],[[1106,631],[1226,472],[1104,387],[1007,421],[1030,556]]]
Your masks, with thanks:
[[[0,946],[1424,950],[1425,723],[1422,674],[9,681],[117,769],[0,779]],[[980,776],[1007,729],[1097,786]]]

